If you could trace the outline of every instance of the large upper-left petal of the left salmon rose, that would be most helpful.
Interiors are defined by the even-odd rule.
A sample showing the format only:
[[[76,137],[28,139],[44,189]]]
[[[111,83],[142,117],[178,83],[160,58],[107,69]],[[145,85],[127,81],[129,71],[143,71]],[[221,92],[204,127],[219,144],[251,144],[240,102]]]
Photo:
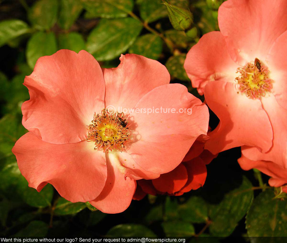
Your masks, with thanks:
[[[59,50],[40,57],[24,85],[30,100],[22,105],[22,123],[45,142],[77,143],[86,125],[104,108],[104,78],[98,62],[82,50]]]

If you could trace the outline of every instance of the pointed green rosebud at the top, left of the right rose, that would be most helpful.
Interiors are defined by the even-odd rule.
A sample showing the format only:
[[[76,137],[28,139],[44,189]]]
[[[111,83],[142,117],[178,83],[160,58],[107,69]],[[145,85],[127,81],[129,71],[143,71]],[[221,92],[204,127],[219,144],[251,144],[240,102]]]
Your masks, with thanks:
[[[168,18],[176,30],[188,30],[193,24],[193,15],[188,8],[177,7],[166,1],[163,2],[168,11]]]

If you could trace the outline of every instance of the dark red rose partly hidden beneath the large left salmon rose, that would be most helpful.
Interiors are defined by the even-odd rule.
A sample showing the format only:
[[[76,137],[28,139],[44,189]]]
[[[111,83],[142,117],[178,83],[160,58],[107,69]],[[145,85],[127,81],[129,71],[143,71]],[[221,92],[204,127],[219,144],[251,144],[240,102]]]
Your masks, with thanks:
[[[207,176],[206,165],[217,156],[203,149],[207,139],[207,136],[200,136],[174,170],[153,180],[137,180],[133,199],[141,200],[146,194],[181,196],[203,186]]]

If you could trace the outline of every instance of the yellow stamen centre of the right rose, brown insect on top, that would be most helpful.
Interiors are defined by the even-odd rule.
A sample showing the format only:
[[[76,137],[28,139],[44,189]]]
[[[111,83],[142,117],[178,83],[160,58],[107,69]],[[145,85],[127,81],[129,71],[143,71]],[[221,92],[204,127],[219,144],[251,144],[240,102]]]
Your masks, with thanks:
[[[240,73],[235,78],[239,85],[238,89],[248,98],[260,99],[261,96],[265,96],[266,92],[272,90],[273,80],[268,77],[269,70],[257,58],[243,68],[238,67],[236,73]]]

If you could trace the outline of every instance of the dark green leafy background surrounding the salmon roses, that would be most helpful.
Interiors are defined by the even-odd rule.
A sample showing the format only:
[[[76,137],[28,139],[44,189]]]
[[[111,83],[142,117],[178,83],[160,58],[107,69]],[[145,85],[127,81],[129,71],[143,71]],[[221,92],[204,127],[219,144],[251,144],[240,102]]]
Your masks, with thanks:
[[[117,67],[121,53],[144,55],[164,64],[172,83],[204,100],[191,87],[183,62],[203,34],[219,30],[222,0],[168,3],[193,14],[185,31],[173,28],[161,0],[0,0],[0,236],[185,236],[190,242],[287,236],[284,195],[268,187],[259,171],[241,170],[240,148],[220,153],[207,166],[199,190],[180,197],[148,195],[114,215],[71,203],[51,185],[37,193],[21,175],[11,148],[26,133],[20,108],[29,94],[22,83],[40,56],[85,49],[102,67]],[[218,118],[210,115],[215,128]]]

